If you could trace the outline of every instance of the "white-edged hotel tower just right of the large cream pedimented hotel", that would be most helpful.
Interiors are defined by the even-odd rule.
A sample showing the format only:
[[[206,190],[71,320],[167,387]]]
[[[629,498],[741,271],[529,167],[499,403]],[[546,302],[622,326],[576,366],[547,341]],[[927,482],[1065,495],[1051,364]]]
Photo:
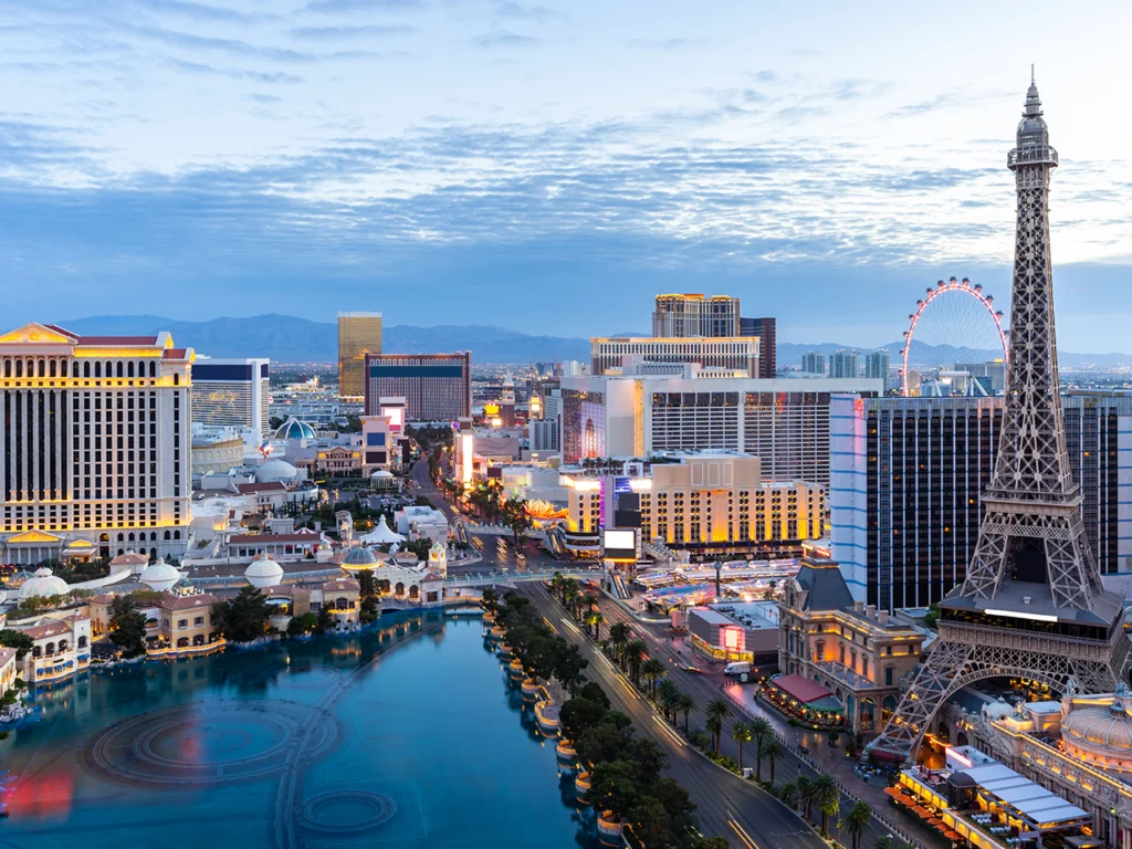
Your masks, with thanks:
[[[200,358],[192,365],[192,421],[234,427],[258,443],[271,431],[271,361]]]

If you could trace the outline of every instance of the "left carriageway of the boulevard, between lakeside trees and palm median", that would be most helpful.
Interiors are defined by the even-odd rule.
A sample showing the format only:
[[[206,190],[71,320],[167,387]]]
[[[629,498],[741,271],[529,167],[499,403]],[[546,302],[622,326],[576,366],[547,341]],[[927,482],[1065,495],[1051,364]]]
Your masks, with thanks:
[[[668,774],[680,782],[696,803],[700,829],[709,837],[727,838],[741,849],[827,849],[800,816],[751,781],[717,766],[663,722],[539,583],[521,584],[547,621],[573,640],[590,661],[586,675],[609,695],[612,706],[628,715],[642,736],[657,741],[668,755]]]

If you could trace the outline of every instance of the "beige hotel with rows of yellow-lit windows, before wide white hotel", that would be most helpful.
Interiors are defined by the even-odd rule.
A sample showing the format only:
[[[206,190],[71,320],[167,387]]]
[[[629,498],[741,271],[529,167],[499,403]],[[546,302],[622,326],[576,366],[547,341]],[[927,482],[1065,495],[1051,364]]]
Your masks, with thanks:
[[[763,480],[757,457],[735,452],[678,452],[635,475],[564,472],[567,531],[641,528],[646,542],[704,555],[780,552],[823,535],[825,492],[800,481]]]

